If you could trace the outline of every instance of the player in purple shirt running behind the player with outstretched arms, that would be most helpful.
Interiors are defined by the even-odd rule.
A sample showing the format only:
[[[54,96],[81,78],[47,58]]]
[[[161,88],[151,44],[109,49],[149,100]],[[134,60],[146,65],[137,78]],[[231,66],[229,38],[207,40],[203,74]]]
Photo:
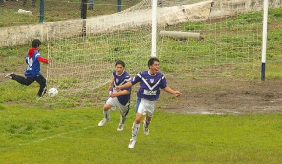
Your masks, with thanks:
[[[115,70],[113,71],[113,79],[109,86],[110,95],[106,100],[106,103],[103,107],[104,118],[99,122],[98,126],[102,127],[110,120],[109,114],[112,107],[117,107],[120,112],[120,122],[117,127],[118,131],[124,130],[126,116],[129,111],[130,104],[130,92],[131,87],[126,87],[125,89],[120,90],[119,92],[115,91],[115,87],[123,85],[130,81],[131,78],[128,73],[125,71],[124,61],[118,60],[115,63]]]

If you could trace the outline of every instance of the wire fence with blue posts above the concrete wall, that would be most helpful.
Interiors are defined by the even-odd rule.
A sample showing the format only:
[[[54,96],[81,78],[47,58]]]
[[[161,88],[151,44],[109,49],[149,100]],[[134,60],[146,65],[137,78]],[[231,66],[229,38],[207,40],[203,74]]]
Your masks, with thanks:
[[[86,0],[87,17],[126,10],[142,0]],[[42,7],[42,3],[44,7]],[[82,0],[0,0],[0,27],[80,19]]]

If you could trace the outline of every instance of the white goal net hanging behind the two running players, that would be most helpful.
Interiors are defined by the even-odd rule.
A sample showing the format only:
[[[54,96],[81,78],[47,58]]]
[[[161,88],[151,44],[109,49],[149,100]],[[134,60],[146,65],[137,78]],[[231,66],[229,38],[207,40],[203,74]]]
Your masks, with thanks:
[[[182,79],[182,83],[188,78],[260,77],[263,1],[157,2],[156,54],[167,77]],[[100,106],[108,97],[117,60],[125,61],[132,77],[148,69],[150,0],[120,13],[50,28],[48,58],[52,64],[47,85],[57,88],[59,95],[41,99],[48,104]]]

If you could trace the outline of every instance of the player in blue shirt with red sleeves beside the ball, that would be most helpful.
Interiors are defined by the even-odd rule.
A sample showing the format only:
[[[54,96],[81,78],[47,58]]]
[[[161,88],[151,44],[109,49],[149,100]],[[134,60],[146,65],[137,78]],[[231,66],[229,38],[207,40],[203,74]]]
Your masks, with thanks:
[[[32,48],[29,50],[27,57],[26,57],[26,72],[25,77],[16,75],[14,73],[7,74],[5,77],[9,77],[12,80],[17,81],[22,85],[29,86],[36,81],[39,84],[39,91],[37,93],[38,97],[42,97],[46,93],[46,79],[40,73],[40,63],[51,63],[50,60],[41,57],[39,53],[39,49],[41,48],[41,42],[38,39],[34,39],[31,43]]]

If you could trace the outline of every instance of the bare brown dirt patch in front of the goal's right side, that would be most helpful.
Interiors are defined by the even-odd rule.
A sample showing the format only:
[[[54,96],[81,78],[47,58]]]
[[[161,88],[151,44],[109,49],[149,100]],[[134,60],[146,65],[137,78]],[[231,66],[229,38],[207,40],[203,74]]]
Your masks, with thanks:
[[[282,81],[226,81],[219,79],[168,79],[168,86],[182,92],[174,98],[162,92],[157,108],[174,113],[243,114],[282,112]]]

